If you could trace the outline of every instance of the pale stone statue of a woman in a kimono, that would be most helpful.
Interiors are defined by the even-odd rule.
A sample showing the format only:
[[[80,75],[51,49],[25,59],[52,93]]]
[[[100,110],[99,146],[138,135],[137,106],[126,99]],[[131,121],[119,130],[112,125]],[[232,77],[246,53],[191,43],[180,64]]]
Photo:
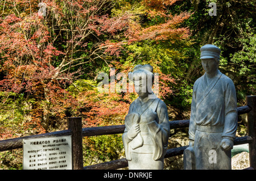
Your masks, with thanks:
[[[170,134],[167,107],[151,90],[151,65],[137,65],[131,74],[139,97],[130,105],[122,136],[129,169],[160,170]]]

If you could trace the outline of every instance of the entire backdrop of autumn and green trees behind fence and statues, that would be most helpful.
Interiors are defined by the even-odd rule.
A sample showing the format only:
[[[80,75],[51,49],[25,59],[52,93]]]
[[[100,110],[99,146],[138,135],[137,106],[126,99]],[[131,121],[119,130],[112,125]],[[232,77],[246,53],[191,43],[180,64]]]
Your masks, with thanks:
[[[0,140],[65,129],[69,116],[83,127],[124,124],[137,95],[98,92],[97,75],[110,82],[110,68],[127,75],[137,64],[159,73],[170,120],[189,119],[204,44],[221,48],[238,106],[255,95],[255,1],[48,0],[46,16],[39,3],[0,1]],[[124,157],[121,136],[85,137],[84,165]],[[1,152],[0,168],[22,169],[22,150]]]

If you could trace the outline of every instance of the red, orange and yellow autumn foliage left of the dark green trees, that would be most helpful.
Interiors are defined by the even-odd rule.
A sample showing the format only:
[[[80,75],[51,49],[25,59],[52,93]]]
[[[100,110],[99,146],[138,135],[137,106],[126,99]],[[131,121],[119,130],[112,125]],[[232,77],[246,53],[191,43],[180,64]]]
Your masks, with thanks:
[[[175,2],[1,1],[0,139],[65,129],[69,116],[82,116],[83,127],[124,124],[137,94],[98,92],[96,77],[110,76],[110,68],[128,75],[137,64],[151,64],[159,96],[167,99],[176,80],[161,65],[181,57],[170,47],[189,37],[181,26],[189,12],[168,11]],[[121,154],[120,143],[105,145],[109,139],[121,138],[86,138],[86,157]]]

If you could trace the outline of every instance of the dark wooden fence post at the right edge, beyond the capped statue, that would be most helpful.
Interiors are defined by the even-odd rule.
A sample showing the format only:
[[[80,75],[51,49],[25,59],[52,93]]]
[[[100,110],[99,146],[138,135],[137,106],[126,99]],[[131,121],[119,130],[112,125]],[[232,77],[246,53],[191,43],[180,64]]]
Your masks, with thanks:
[[[249,144],[250,167],[256,169],[256,96],[246,96],[247,106],[251,107],[251,111],[247,113],[248,134],[253,138],[253,142]]]

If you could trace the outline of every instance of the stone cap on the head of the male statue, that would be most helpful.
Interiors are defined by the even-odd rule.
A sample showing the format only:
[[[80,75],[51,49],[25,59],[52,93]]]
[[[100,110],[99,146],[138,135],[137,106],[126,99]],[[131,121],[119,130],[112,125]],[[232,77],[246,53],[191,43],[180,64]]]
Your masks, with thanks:
[[[220,60],[221,49],[215,45],[207,44],[200,48],[201,56],[200,59],[216,58]]]

